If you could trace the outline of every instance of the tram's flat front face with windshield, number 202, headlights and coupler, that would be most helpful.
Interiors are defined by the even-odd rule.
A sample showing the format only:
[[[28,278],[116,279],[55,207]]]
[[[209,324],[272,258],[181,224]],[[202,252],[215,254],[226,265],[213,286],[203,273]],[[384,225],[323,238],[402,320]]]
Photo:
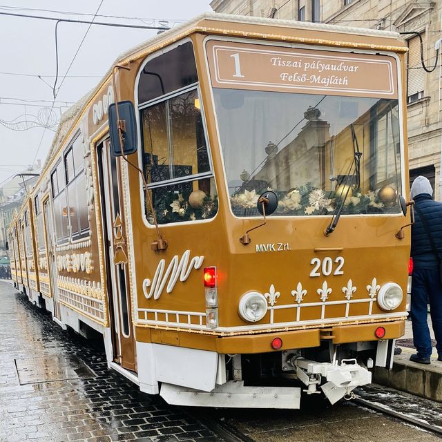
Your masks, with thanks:
[[[217,39],[205,48],[228,201],[216,328],[249,336],[227,345],[231,373],[249,385],[297,378],[309,393],[322,385],[334,403],[371,381],[367,368],[390,367],[404,331],[400,59]]]

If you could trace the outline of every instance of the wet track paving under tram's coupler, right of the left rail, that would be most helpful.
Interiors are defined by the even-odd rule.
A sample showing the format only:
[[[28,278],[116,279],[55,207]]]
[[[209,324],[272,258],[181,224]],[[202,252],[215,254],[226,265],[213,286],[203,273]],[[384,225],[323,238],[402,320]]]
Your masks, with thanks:
[[[399,406],[403,412],[413,410],[415,416],[421,416],[421,408],[428,406],[425,416],[437,422],[438,411],[431,411],[432,401],[411,395],[376,392],[370,387],[365,398],[378,403],[390,403]],[[389,396],[391,401],[389,401]],[[425,403],[426,402],[426,403]],[[418,405],[419,404],[419,405]],[[397,406],[396,406],[397,405]],[[441,405],[441,404],[439,404]],[[320,395],[303,397],[301,410],[244,410],[238,414],[235,410],[222,410],[221,419],[233,425],[240,432],[255,442],[440,442],[436,434],[403,423],[381,412],[356,405],[354,402],[340,402],[329,405]]]

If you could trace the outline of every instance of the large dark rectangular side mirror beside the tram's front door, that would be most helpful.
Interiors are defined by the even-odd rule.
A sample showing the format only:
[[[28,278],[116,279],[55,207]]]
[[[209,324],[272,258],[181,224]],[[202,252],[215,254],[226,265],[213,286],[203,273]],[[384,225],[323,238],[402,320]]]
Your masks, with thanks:
[[[137,151],[137,124],[135,122],[135,108],[129,101],[113,103],[108,108],[109,132],[111,135],[111,153],[115,157],[129,155]],[[122,144],[119,142],[119,129],[122,131]]]

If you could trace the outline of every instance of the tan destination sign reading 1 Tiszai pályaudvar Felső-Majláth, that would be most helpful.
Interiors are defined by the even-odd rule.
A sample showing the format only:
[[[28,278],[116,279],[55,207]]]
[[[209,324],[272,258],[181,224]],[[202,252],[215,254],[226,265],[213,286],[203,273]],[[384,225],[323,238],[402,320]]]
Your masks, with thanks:
[[[209,40],[215,88],[397,98],[396,59]]]

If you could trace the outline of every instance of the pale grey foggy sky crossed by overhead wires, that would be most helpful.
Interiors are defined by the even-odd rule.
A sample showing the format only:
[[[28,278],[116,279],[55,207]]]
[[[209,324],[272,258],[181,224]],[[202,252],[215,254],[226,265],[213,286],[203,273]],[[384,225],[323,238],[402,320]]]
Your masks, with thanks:
[[[90,20],[92,16],[61,15],[46,11],[8,10],[15,8],[35,8],[82,12],[94,14],[101,0],[0,0],[0,12],[13,12],[26,15],[62,17],[66,19]],[[115,15],[148,19],[185,21],[201,12],[210,12],[210,0],[104,0],[99,15]],[[151,26],[149,21],[97,17],[95,21],[129,23]],[[44,77],[49,84],[55,80],[55,21],[41,21],[21,17],[0,15],[0,72]],[[155,23],[157,26],[158,23]],[[177,23],[179,24],[179,23]],[[88,28],[87,24],[60,23],[58,26],[59,83],[72,61],[75,52]],[[156,35],[156,30],[130,28],[109,28],[92,26],[77,55],[68,75],[93,75],[96,77],[67,77],[57,95],[57,102],[76,102],[94,88],[115,58],[128,48]],[[20,121],[36,119],[41,106],[52,104],[52,89],[38,77],[23,77],[0,74],[0,119]],[[12,98],[26,100],[48,100],[48,102],[19,102]],[[14,102],[12,106],[5,102]],[[27,104],[27,106],[23,106]],[[30,106],[37,104],[40,107]],[[64,106],[64,107],[58,107]],[[59,117],[70,104],[56,103],[54,111]],[[45,119],[46,120],[46,119]],[[56,126],[53,130],[56,129]],[[0,186],[10,175],[26,169],[32,163],[37,147],[44,133],[43,128],[28,131],[13,131],[0,124]],[[44,162],[52,142],[53,131],[46,129],[37,159]]]

